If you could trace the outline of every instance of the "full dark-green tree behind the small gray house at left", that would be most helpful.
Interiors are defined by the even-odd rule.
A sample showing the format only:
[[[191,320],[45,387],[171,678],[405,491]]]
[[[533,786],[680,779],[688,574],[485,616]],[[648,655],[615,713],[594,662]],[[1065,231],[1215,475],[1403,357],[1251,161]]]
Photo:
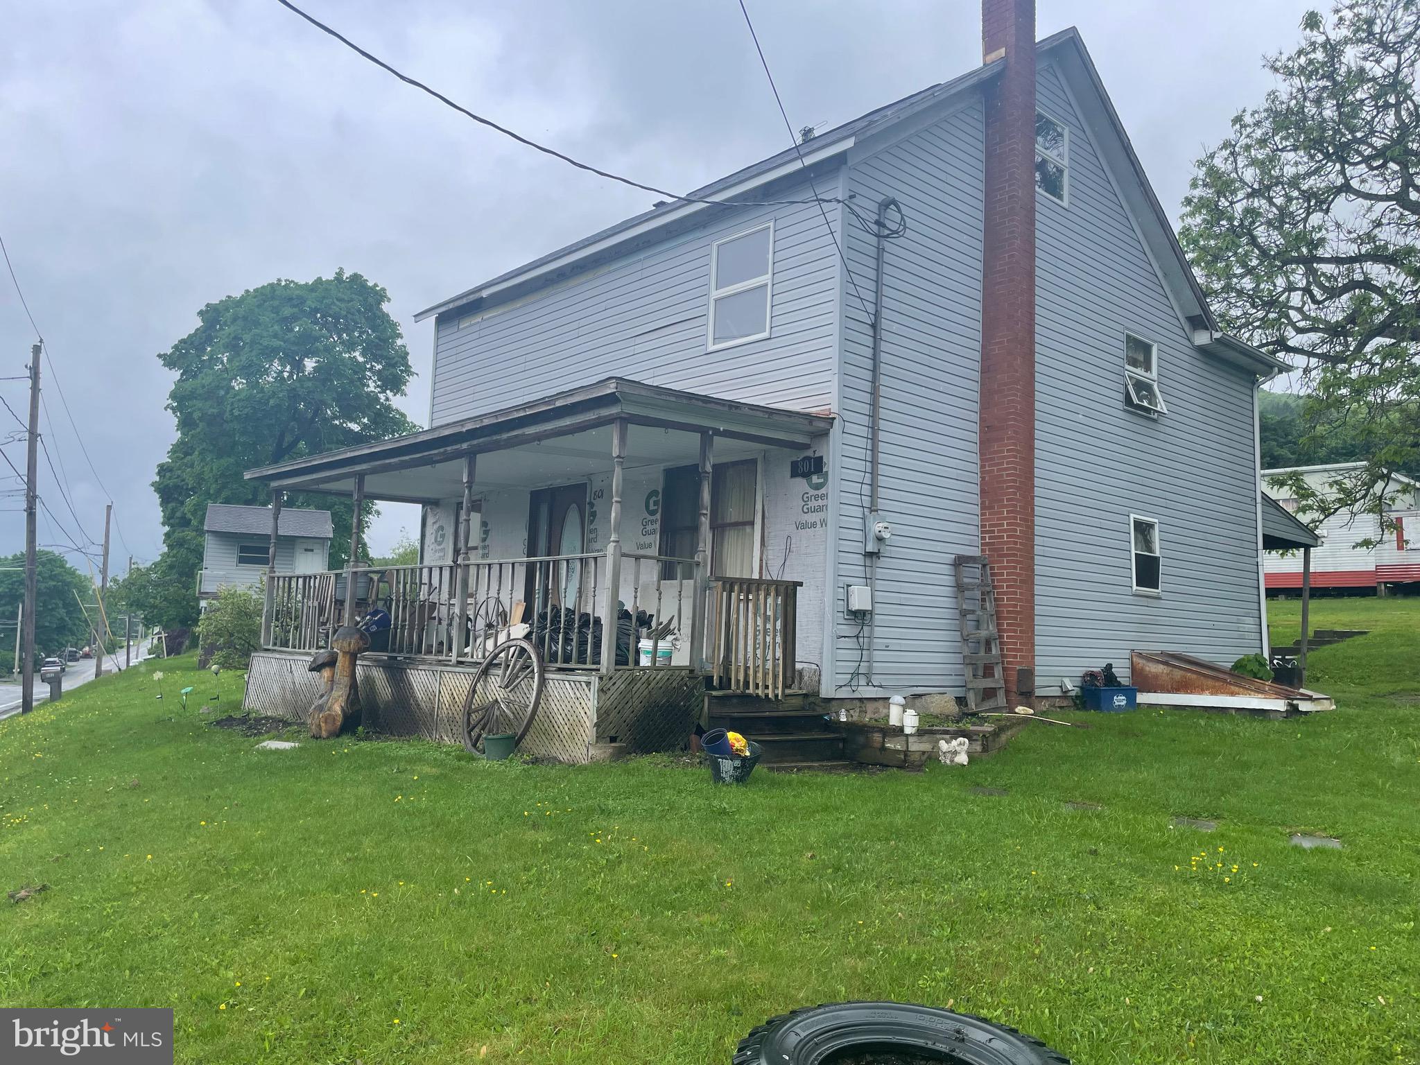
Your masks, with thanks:
[[[344,270],[273,281],[207,304],[199,327],[158,356],[178,373],[168,395],[178,439],[153,481],[165,550],[149,574],[149,621],[196,621],[207,504],[270,503],[268,488],[243,480],[244,470],[416,427],[395,406],[412,369],[388,302],[383,288]],[[349,501],[291,493],[285,506],[331,511],[331,565],[342,567]],[[372,517],[368,507],[366,528]]]

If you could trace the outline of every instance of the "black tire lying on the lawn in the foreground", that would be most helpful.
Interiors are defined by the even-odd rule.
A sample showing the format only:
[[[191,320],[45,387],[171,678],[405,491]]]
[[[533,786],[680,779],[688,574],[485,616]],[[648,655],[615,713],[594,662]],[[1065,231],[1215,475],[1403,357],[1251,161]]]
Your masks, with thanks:
[[[950,1065],[1069,1065],[1014,1028],[906,1003],[838,1003],[775,1017],[740,1041],[734,1065],[822,1065],[853,1049]]]

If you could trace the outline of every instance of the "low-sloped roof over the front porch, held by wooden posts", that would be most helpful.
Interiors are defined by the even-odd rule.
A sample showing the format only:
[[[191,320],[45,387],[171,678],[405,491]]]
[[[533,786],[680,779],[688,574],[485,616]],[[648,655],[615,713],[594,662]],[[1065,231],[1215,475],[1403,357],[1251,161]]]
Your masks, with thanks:
[[[606,378],[409,436],[247,470],[246,477],[270,481],[273,488],[348,494],[364,474],[369,498],[432,503],[460,493],[462,460],[473,453],[480,488],[540,487],[609,469],[611,426],[619,419],[630,426],[628,469],[696,462],[703,432],[716,437],[717,462],[765,447],[804,450],[834,422],[825,415]]]

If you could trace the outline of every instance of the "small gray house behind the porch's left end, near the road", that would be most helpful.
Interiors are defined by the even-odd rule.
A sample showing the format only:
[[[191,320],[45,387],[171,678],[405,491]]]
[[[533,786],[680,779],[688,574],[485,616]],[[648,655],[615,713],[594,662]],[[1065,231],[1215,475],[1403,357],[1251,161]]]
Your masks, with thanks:
[[[329,567],[331,513],[283,508],[275,541],[278,574],[318,574]],[[267,569],[271,508],[209,503],[202,523],[207,534],[197,578],[197,601],[214,599],[223,588],[256,588]]]

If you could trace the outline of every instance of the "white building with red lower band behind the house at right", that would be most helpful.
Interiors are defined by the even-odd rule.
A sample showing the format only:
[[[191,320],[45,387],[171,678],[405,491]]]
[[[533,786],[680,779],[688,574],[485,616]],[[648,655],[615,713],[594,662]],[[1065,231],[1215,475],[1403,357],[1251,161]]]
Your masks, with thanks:
[[[1420,484],[1403,474],[1393,474],[1386,486],[1376,486],[1386,498],[1386,517],[1394,528],[1384,528],[1379,514],[1352,514],[1339,510],[1325,517],[1299,513],[1296,491],[1287,480],[1301,476],[1308,488],[1335,497],[1338,488],[1365,470],[1365,463],[1331,466],[1292,466],[1262,470],[1262,490],[1284,510],[1316,527],[1321,544],[1312,550],[1312,588],[1375,588],[1384,594],[1387,585],[1420,581]],[[1370,541],[1375,545],[1360,548]],[[1294,552],[1267,552],[1267,589],[1285,592],[1302,586],[1302,559]]]

